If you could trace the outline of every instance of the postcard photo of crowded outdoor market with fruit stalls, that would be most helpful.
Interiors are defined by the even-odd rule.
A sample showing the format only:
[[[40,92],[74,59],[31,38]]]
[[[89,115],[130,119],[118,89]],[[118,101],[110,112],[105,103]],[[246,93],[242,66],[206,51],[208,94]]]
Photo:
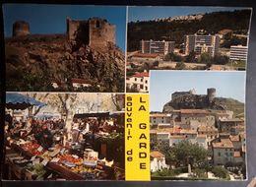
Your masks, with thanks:
[[[124,94],[7,93],[5,180],[124,180]]]

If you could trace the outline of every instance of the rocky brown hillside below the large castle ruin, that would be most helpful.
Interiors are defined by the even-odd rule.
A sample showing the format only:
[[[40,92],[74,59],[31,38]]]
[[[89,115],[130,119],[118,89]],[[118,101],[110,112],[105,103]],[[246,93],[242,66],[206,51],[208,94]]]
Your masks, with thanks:
[[[65,34],[27,35],[7,38],[5,52],[7,91],[73,91],[72,79],[91,83],[82,91],[124,90],[124,55],[110,42],[105,52],[88,45],[74,51]]]

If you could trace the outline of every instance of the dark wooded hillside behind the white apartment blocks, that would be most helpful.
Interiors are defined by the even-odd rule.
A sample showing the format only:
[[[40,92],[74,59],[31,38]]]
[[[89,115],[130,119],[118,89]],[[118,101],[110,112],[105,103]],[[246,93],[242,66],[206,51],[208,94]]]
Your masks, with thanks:
[[[213,34],[222,30],[246,34],[249,28],[250,14],[250,10],[236,10],[207,13],[200,19],[184,17],[185,19],[169,18],[130,22],[127,31],[128,51],[138,50],[141,39],[174,40],[176,45],[179,45],[183,42],[184,34],[192,34],[199,30]]]

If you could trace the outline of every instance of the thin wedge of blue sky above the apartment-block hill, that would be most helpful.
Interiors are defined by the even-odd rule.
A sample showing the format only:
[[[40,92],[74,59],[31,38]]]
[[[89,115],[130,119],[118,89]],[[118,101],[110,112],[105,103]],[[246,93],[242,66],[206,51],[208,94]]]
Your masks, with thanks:
[[[245,8],[234,7],[149,7],[138,6],[128,8],[128,22],[147,21],[173,16],[186,16],[198,13],[233,11]]]

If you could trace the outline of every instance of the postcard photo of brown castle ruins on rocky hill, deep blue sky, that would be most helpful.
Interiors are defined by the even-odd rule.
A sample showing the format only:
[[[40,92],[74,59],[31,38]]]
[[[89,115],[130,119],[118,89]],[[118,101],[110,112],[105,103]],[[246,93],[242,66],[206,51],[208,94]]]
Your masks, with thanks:
[[[5,4],[6,90],[124,93],[125,6]]]

